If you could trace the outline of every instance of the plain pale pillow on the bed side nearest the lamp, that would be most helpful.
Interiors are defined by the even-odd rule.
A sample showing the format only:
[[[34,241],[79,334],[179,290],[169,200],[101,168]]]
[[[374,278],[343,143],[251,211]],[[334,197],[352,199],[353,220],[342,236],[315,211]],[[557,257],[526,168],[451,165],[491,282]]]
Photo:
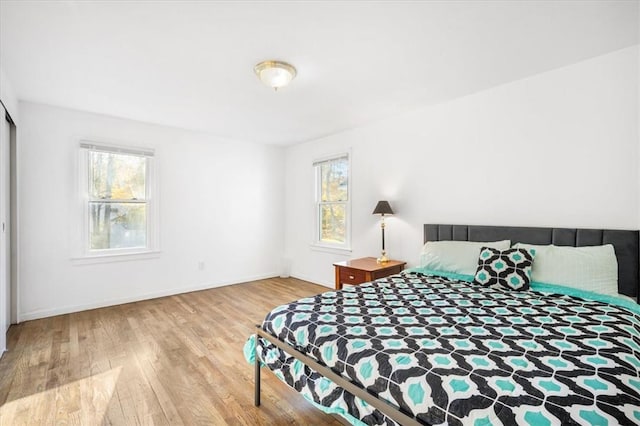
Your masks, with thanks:
[[[474,275],[482,247],[506,250],[510,240],[493,242],[429,241],[422,247],[420,266],[432,271]]]

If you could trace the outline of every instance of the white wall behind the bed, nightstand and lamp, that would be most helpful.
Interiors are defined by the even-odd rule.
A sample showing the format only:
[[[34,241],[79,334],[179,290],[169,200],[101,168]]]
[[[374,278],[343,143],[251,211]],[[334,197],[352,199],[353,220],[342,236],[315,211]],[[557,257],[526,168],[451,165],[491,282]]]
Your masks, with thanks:
[[[314,158],[352,149],[353,252],[418,262],[423,223],[639,225],[638,46],[286,151],[291,274],[333,285],[349,256],[310,248]]]

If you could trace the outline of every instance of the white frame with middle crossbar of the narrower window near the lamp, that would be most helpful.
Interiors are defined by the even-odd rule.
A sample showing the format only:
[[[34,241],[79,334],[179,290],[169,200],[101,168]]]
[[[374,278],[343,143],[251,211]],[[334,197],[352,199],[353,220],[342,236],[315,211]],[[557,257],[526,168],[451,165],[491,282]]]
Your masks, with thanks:
[[[321,200],[322,187],[320,176],[320,165],[323,163],[339,160],[342,158],[347,159],[347,201],[325,201]],[[312,162],[313,167],[313,186],[314,186],[314,225],[313,225],[313,237],[311,246],[314,249],[328,252],[351,252],[351,187],[353,185],[352,167],[351,167],[351,152],[345,151],[338,154],[327,155],[317,158]],[[327,204],[340,204],[345,206],[345,242],[344,243],[330,243],[321,240],[322,236],[322,218],[321,218],[321,206]]]

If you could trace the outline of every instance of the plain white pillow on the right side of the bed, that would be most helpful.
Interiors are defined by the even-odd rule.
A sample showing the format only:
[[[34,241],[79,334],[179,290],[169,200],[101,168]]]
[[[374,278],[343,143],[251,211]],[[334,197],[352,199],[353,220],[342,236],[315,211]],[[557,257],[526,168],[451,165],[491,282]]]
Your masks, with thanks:
[[[611,244],[564,247],[518,243],[514,247],[536,250],[532,281],[618,295],[618,259]]]

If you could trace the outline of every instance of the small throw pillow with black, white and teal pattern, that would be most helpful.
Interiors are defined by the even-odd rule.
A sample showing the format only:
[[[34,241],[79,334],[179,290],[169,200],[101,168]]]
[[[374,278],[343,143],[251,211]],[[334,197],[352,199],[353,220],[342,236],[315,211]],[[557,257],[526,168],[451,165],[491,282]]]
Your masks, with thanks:
[[[474,284],[499,285],[511,290],[527,290],[536,251],[523,248],[496,250],[482,247]]]

